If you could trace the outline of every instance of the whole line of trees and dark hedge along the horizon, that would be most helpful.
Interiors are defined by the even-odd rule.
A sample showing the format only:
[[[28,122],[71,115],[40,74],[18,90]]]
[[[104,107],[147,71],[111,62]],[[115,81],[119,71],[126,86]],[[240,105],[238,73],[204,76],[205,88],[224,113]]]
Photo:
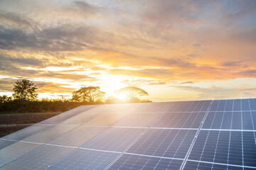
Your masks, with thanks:
[[[148,96],[149,94],[135,86],[127,86],[115,91],[117,96],[124,96],[123,101],[107,97],[99,86],[82,86],[77,91],[73,91],[70,99],[41,98],[39,100],[37,89],[38,87],[33,81],[27,79],[16,81],[12,96],[0,96],[0,113],[63,112],[86,104],[151,102],[139,99],[139,96]]]

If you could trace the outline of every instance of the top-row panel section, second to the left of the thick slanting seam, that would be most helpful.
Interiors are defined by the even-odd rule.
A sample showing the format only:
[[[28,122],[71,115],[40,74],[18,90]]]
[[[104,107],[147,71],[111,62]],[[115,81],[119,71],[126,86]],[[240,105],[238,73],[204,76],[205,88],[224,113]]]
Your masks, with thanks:
[[[144,103],[139,107],[135,113],[152,113],[152,112],[166,112],[171,108],[174,102],[159,102],[159,103]]]

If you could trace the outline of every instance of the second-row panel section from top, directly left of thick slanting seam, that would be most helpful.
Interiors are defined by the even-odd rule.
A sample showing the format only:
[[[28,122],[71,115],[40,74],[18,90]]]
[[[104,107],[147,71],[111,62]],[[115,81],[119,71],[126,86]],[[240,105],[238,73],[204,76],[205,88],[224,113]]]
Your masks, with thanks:
[[[157,128],[199,128],[206,113],[166,113],[154,125]]]

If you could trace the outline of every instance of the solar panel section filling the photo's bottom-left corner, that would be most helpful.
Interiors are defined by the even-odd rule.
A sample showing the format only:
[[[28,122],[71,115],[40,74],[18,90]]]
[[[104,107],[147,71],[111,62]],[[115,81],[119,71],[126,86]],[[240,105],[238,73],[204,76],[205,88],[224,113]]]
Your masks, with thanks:
[[[2,169],[8,170],[35,170],[46,169],[48,166],[58,161],[74,149],[70,147],[56,147],[43,145],[34,149],[32,152],[19,157],[14,162],[3,166]]]

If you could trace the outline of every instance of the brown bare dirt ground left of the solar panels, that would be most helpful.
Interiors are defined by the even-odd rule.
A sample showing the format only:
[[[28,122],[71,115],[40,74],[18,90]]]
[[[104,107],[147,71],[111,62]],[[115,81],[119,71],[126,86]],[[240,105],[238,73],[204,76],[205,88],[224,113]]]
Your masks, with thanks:
[[[23,113],[0,115],[0,137],[4,137],[12,132],[16,132],[17,130],[21,130],[29,125],[41,122],[42,120],[46,120],[58,114],[59,113]]]

